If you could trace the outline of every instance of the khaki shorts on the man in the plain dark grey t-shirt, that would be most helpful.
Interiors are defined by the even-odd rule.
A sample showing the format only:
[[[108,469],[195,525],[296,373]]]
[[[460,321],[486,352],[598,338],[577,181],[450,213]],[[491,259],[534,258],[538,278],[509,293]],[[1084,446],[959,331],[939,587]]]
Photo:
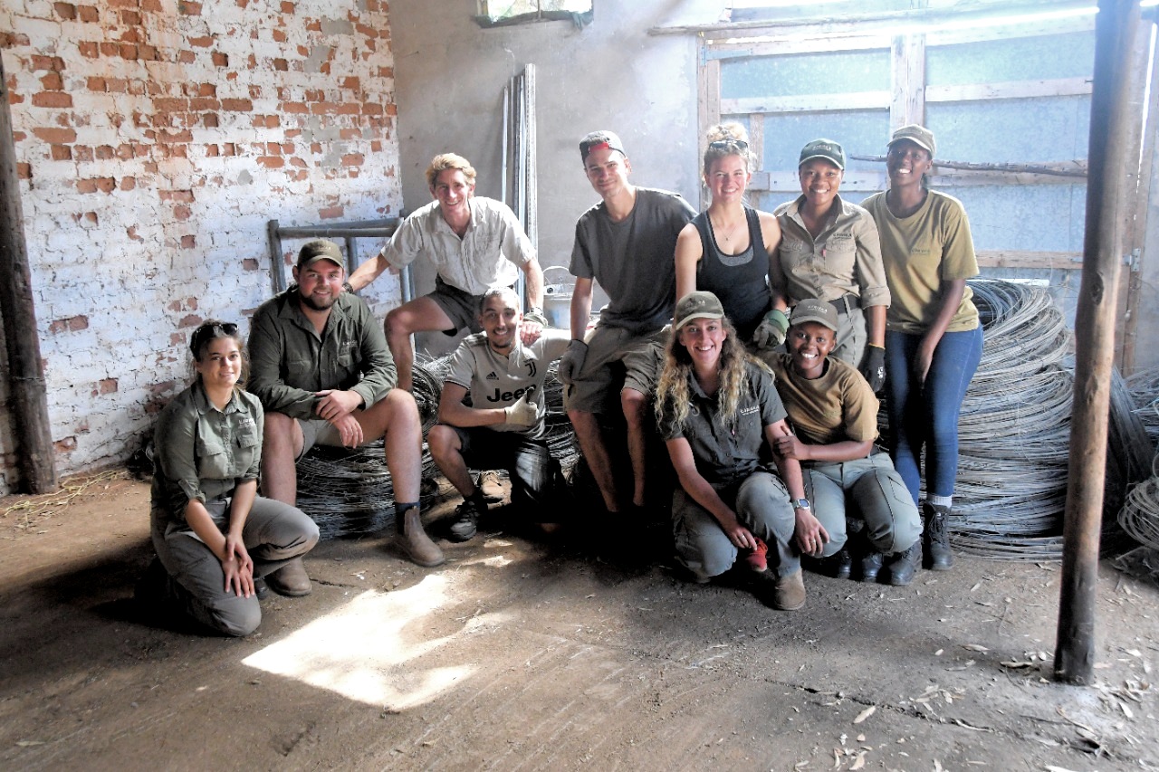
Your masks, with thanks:
[[[664,366],[664,345],[671,334],[670,327],[636,335],[622,327],[597,325],[584,341],[588,356],[576,383],[563,391],[563,407],[583,413],[618,409],[618,406],[611,406],[608,398],[621,372],[622,388],[632,388],[647,396],[654,394]]]

